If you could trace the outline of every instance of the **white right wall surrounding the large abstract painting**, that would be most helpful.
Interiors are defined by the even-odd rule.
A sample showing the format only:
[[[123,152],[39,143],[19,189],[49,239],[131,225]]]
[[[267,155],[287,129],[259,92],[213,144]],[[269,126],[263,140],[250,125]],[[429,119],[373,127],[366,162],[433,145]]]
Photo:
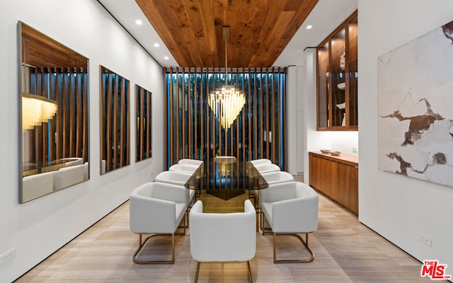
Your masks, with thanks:
[[[453,187],[377,169],[377,57],[453,20],[450,0],[359,0],[359,219],[453,275]],[[452,105],[453,107],[453,105]],[[432,247],[418,234],[432,238]]]

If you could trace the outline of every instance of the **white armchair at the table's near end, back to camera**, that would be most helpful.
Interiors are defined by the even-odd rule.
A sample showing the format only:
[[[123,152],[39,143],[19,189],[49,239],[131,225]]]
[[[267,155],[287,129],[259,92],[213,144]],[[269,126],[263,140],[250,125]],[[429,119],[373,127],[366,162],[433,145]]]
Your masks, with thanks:
[[[200,262],[247,262],[248,278],[252,282],[251,260],[256,251],[256,210],[250,200],[244,202],[244,212],[203,213],[203,204],[195,202],[189,214],[190,253],[197,260],[194,282],[197,282]]]

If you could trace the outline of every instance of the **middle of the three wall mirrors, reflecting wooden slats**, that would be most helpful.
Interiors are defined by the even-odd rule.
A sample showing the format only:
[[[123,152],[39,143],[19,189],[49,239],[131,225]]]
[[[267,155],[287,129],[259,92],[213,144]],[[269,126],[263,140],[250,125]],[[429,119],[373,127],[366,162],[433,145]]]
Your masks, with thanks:
[[[130,164],[130,82],[101,69],[101,174]]]

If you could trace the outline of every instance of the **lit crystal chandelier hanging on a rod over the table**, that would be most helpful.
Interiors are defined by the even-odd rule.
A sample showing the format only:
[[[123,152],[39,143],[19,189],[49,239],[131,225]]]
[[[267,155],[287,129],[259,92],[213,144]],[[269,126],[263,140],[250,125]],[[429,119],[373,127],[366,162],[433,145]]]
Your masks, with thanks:
[[[228,129],[236,120],[239,112],[241,112],[243,105],[246,103],[246,97],[239,88],[227,84],[228,52],[226,52],[226,44],[229,40],[229,26],[224,26],[222,32],[225,42],[225,85],[210,93],[208,103],[220,125],[224,129]]]

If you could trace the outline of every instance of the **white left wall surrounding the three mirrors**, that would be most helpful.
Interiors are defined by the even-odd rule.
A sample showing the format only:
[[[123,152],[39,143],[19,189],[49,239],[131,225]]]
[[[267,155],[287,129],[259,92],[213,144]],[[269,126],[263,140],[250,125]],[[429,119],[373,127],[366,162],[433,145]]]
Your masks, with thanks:
[[[90,176],[25,204],[18,203],[18,56],[17,23],[40,30],[90,59]],[[11,282],[44,260],[129,198],[130,191],[163,170],[164,96],[162,69],[136,44],[97,1],[19,0],[0,4],[0,255],[16,248],[16,257],[0,265],[0,282]],[[153,93],[153,157],[100,175],[99,65]],[[134,119],[130,119],[134,129]],[[6,134],[5,134],[6,133]],[[131,134],[131,156],[135,138]]]

